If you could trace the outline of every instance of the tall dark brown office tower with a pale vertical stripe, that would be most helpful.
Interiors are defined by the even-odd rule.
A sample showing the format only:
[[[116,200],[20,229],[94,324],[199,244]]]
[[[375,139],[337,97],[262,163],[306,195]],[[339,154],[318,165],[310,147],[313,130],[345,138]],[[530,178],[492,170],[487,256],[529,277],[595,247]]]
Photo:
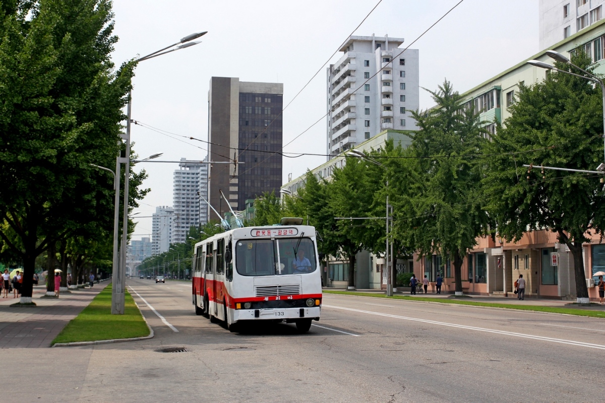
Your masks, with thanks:
[[[208,91],[208,145],[211,164],[209,201],[220,214],[229,211],[220,190],[234,210],[263,192],[279,195],[284,85],[248,83],[231,77],[212,77]],[[217,219],[208,209],[208,219]]]

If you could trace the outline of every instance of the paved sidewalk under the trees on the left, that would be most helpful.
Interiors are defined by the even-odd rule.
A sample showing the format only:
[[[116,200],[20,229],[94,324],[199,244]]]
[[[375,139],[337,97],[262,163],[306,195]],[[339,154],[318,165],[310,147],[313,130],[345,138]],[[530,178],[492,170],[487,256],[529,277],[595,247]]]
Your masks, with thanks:
[[[108,282],[93,288],[72,289],[59,298],[41,298],[44,285],[34,286],[31,300],[37,306],[22,308],[10,305],[19,301],[10,294],[0,298],[0,348],[50,347],[59,332],[84,309]]]

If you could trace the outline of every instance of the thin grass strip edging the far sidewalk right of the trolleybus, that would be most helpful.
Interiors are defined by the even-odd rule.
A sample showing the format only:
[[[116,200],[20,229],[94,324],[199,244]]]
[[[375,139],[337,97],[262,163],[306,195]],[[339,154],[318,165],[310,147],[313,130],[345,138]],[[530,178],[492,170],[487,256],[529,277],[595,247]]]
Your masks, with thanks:
[[[535,312],[551,312],[553,314],[567,314],[577,316],[587,316],[592,318],[605,318],[604,311],[597,311],[593,309],[577,309],[577,308],[558,308],[555,306],[535,306],[535,305],[512,305],[512,304],[500,304],[491,302],[477,302],[463,299],[445,299],[445,298],[430,298],[430,297],[411,297],[408,295],[393,295],[393,297],[387,297],[385,294],[374,294],[373,292],[355,292],[355,291],[332,291],[324,290],[324,294],[341,294],[341,295],[358,295],[359,297],[374,297],[374,298],[389,298],[394,300],[408,300],[408,301],[426,301],[426,302],[437,302],[442,304],[455,304],[455,305],[471,305],[471,306],[486,306],[489,308],[504,308],[504,309],[517,309],[518,311],[535,311]]]

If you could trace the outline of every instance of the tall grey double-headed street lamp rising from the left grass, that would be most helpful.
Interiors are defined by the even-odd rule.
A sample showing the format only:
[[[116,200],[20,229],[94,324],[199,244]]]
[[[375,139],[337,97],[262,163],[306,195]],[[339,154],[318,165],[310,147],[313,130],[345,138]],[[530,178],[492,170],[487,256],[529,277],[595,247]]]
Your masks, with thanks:
[[[154,53],[150,53],[147,56],[140,57],[136,60],[136,63],[142,62],[143,60],[151,59],[152,57],[161,56],[162,54],[170,53],[175,50],[188,48],[193,45],[197,45],[200,42],[195,41],[200,36],[206,34],[207,31],[197,32],[189,34],[181,38],[181,40],[175,44],[169,45],[162,48]],[[182,44],[182,45],[179,45]],[[171,49],[172,48],[172,49]],[[131,111],[132,111],[132,89],[128,92],[128,105],[126,106],[126,134],[123,139],[126,143],[125,158],[116,159],[116,172],[120,172],[120,163],[125,164],[124,169],[124,212],[123,212],[123,223],[122,223],[122,256],[121,264],[114,267],[114,279],[113,279],[113,293],[111,295],[111,314],[112,315],[123,315],[124,314],[124,285],[126,283],[126,243],[128,242],[128,193],[129,193],[129,179],[130,179],[130,126],[131,126]],[[159,156],[159,155],[157,155]],[[116,190],[117,192],[118,190]]]

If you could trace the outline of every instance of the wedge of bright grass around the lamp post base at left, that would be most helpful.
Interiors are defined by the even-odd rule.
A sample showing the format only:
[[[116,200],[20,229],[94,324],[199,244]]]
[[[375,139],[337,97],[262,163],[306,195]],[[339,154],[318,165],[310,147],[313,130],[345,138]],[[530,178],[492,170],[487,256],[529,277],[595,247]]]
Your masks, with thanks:
[[[52,344],[148,336],[149,328],[139,307],[128,291],[125,291],[125,294],[124,314],[112,315],[111,284],[106,286],[61,330]]]

